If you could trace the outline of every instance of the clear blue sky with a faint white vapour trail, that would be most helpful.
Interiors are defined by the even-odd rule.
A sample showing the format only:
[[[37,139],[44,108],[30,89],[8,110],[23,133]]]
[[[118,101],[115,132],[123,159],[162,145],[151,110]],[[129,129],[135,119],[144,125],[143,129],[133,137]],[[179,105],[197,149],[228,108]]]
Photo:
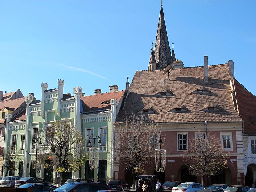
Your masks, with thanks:
[[[161,0],[0,0],[0,90],[41,100],[41,82],[85,95],[125,89],[147,70]],[[163,0],[176,59],[184,67],[234,61],[235,78],[256,95],[255,0]]]

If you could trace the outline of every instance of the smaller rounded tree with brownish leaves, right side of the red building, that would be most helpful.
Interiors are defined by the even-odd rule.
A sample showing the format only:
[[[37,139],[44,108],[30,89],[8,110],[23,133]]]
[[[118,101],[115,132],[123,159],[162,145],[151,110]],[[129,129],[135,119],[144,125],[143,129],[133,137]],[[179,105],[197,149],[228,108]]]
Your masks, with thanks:
[[[204,135],[200,133],[195,140],[189,140],[189,150],[185,153],[189,173],[200,176],[202,184],[204,176],[218,174],[228,163],[228,152],[223,151],[220,138],[213,132]]]

